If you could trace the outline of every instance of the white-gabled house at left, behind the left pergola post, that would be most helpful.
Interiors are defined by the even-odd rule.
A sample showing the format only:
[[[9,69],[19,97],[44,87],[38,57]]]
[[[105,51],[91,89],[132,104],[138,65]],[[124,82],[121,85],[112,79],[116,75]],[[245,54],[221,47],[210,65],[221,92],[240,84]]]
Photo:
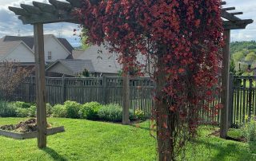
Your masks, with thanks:
[[[46,63],[69,59],[74,49],[64,38],[52,34],[44,36]],[[0,39],[0,62],[17,61],[20,65],[34,65],[34,37],[6,36]]]

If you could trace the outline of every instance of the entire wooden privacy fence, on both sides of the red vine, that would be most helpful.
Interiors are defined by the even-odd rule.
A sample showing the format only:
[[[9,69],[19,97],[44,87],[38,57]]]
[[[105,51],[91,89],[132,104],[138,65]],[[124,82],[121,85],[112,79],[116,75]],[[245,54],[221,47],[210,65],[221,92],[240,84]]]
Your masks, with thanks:
[[[46,102],[62,104],[66,100],[74,100],[81,104],[97,101],[102,104],[122,105],[122,77],[70,78],[46,77]],[[140,109],[150,115],[154,107],[154,81],[149,77],[130,77],[130,109]],[[35,78],[27,77],[7,100],[35,102]],[[220,104],[216,98],[210,107]],[[199,112],[204,123],[212,121],[214,111]],[[246,116],[256,115],[256,77],[230,76],[229,123],[241,125]],[[214,117],[220,122],[220,112]]]

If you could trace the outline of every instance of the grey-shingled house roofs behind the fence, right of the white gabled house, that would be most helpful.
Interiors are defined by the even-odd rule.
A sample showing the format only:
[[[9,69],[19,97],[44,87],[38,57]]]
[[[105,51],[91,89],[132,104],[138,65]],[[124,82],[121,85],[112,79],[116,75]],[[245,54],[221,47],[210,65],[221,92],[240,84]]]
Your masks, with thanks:
[[[86,50],[73,50],[73,60],[58,60],[46,68],[46,75],[59,77],[78,77],[83,72],[90,73],[90,77],[117,77],[122,70],[117,55],[110,53],[102,46],[93,45]]]

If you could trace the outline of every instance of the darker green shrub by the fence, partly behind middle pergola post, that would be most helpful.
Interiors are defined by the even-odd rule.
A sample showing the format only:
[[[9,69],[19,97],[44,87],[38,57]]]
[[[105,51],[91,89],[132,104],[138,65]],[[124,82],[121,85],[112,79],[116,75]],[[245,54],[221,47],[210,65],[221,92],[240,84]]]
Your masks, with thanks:
[[[133,112],[129,111],[130,120],[134,118]],[[102,106],[98,111],[98,116],[101,120],[120,122],[122,121],[122,107],[118,104],[108,104]]]

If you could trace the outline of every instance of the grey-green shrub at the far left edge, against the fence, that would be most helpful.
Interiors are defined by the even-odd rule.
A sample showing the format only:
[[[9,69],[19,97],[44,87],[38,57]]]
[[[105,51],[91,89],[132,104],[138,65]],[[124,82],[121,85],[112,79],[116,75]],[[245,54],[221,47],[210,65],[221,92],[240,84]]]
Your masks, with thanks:
[[[1,117],[15,117],[16,107],[4,100],[0,100],[0,116]]]

